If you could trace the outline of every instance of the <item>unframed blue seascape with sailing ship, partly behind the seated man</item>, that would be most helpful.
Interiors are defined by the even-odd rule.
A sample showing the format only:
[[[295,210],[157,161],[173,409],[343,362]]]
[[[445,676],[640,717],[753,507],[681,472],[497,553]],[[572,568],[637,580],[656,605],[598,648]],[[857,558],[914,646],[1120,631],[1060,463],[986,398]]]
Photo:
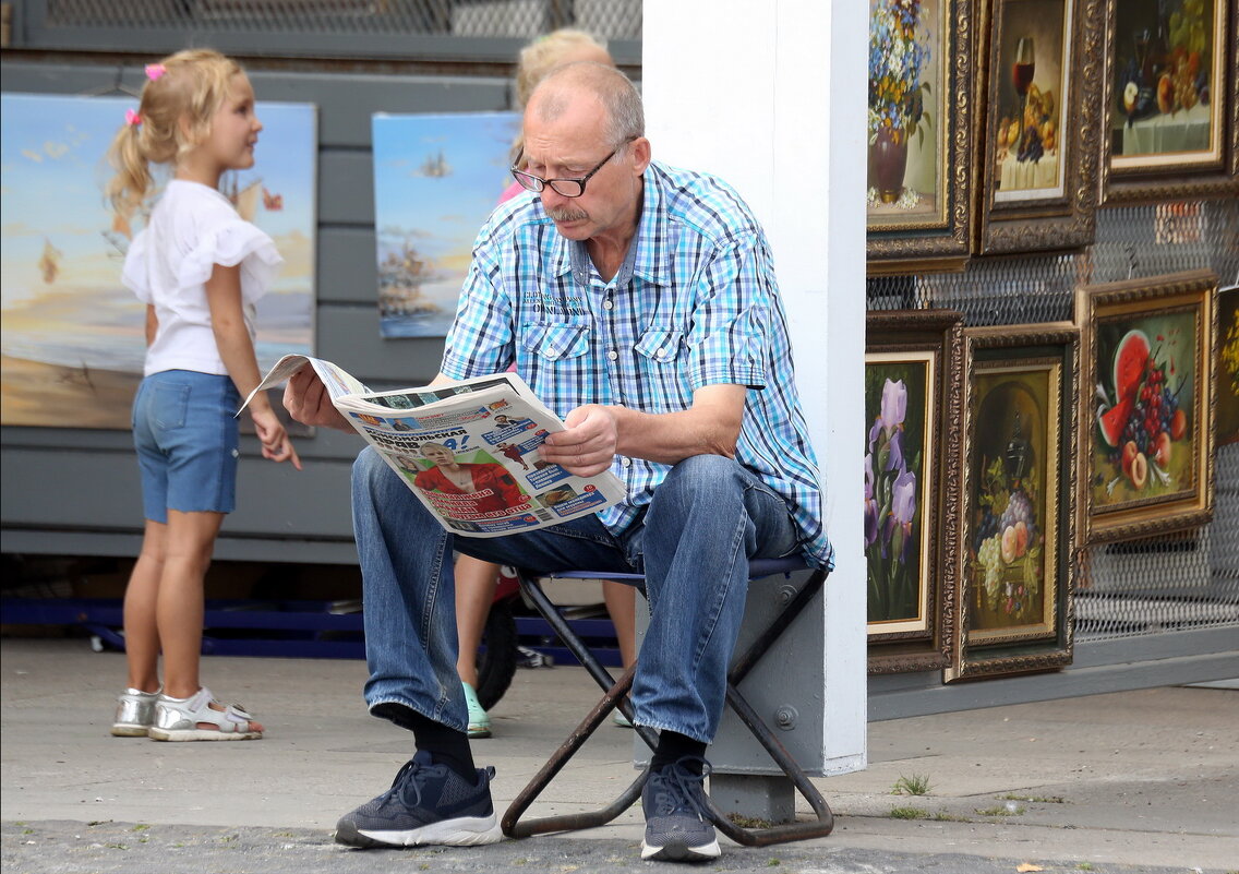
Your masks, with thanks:
[[[473,239],[508,172],[517,113],[373,119],[378,307],[384,337],[442,337]]]

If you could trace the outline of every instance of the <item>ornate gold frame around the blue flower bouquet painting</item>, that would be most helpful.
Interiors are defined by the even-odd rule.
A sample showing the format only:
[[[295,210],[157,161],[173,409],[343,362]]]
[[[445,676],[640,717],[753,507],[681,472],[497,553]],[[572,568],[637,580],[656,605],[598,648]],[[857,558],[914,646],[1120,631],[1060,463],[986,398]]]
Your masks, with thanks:
[[[938,211],[919,221],[866,221],[870,275],[926,273],[960,268],[971,252],[973,217],[973,63],[975,15],[970,0],[938,2],[934,58],[939,87],[933,95],[938,144]]]

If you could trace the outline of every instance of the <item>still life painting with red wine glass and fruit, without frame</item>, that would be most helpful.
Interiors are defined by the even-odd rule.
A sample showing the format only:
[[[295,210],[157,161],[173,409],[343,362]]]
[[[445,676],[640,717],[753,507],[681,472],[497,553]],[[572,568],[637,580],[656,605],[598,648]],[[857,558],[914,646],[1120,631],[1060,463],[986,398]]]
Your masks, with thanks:
[[[997,31],[995,201],[1059,195],[1072,0],[1002,4]]]

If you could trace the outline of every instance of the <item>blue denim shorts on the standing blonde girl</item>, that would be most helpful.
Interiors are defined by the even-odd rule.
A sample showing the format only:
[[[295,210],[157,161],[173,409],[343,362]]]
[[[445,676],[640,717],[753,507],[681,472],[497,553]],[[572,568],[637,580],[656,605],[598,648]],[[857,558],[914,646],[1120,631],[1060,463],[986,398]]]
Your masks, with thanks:
[[[164,371],[134,398],[134,446],[142,474],[142,512],[230,513],[237,506],[240,395],[229,377]]]

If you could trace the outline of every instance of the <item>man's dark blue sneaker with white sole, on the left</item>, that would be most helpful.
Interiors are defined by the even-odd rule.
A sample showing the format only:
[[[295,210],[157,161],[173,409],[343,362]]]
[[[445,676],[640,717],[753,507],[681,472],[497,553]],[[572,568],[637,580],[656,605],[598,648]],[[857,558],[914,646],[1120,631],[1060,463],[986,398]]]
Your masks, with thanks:
[[[503,838],[491,803],[493,767],[478,769],[470,785],[429,753],[405,762],[392,788],[342,817],[336,843],[349,847],[472,847]]]

